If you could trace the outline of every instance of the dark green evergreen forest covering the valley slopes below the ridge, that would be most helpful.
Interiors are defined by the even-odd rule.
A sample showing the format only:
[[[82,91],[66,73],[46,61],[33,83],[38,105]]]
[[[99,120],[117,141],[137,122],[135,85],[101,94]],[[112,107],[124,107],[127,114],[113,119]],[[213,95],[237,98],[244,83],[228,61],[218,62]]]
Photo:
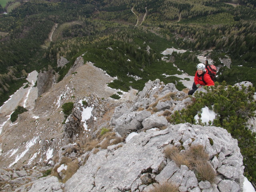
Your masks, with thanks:
[[[28,73],[52,69],[61,81],[81,55],[117,77],[108,86],[123,91],[142,90],[156,78],[182,90],[180,78],[171,75],[194,76],[202,52],[218,67],[218,82],[250,81],[256,87],[255,0],[0,0],[0,5],[0,106]],[[161,52],[172,47],[188,51],[163,61]],[[70,62],[58,68],[62,56]],[[230,68],[220,58],[230,58]],[[255,140],[250,149],[256,149]],[[246,174],[256,182],[252,159]]]

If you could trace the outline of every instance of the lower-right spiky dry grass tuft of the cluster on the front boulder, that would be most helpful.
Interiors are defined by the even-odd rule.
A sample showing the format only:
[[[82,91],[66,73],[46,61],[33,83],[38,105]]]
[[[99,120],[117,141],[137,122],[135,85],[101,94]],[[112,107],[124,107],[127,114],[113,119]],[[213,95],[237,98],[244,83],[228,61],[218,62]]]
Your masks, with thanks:
[[[198,178],[202,181],[209,181],[214,183],[216,180],[216,171],[208,161],[196,162],[196,172],[198,172]]]

